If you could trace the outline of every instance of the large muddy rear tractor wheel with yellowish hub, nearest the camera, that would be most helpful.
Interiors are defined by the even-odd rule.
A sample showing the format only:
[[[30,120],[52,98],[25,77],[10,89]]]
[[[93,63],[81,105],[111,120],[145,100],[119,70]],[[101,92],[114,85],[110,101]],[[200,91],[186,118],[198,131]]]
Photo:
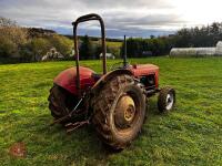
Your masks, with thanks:
[[[145,117],[145,96],[129,75],[109,81],[93,98],[92,123],[104,144],[123,149],[138,136]]]

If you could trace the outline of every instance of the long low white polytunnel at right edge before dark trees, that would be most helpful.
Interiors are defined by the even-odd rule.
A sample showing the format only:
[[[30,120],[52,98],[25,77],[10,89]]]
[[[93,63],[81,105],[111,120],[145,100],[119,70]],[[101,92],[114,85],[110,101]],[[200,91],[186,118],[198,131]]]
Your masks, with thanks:
[[[222,55],[222,41],[215,48],[173,48],[170,56],[214,56]]]

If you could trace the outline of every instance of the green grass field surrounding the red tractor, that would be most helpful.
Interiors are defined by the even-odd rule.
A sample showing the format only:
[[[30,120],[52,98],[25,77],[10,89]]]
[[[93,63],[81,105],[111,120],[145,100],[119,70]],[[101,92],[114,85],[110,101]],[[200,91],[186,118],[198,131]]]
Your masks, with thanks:
[[[67,135],[49,126],[52,79],[73,62],[0,65],[0,165],[222,165],[222,59],[130,61],[158,64],[160,85],[174,86],[178,98],[169,115],[150,100],[142,133],[121,153],[107,151],[93,127]],[[81,63],[101,71],[99,61]],[[17,142],[27,145],[26,158],[9,155]]]

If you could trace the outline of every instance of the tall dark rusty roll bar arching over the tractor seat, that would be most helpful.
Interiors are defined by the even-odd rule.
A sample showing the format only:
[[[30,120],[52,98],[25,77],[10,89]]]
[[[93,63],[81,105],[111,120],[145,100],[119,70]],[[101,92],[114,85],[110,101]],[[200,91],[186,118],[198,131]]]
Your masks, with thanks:
[[[105,46],[105,31],[104,31],[104,22],[102,18],[99,14],[90,13],[82,15],[78,18],[74,22],[72,22],[73,25],[73,38],[74,38],[74,53],[75,53],[75,65],[77,65],[77,91],[78,94],[81,94],[80,90],[80,70],[79,70],[79,48],[78,48],[78,35],[77,35],[77,28],[78,24],[85,21],[91,20],[98,20],[100,22],[101,27],[101,40],[102,40],[102,68],[103,68],[103,74],[107,74],[107,46]]]

